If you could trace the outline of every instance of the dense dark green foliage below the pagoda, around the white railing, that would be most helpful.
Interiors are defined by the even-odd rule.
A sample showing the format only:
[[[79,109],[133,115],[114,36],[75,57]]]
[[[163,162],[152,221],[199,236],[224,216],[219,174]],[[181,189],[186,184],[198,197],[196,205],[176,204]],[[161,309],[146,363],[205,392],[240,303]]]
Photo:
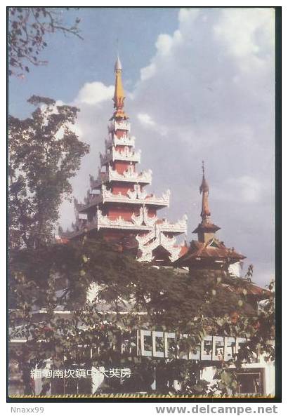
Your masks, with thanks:
[[[173,380],[181,380],[182,394],[214,396],[237,390],[237,377],[229,366],[231,363],[219,362],[211,387],[197,376],[204,365],[201,361],[137,357],[129,351],[121,354],[112,347],[119,334],[123,339],[125,334],[138,328],[192,334],[181,340],[184,351],[195,347],[207,334],[249,337],[249,348],[240,349],[233,361],[236,368],[243,361],[253,361],[257,352],[273,359],[270,344],[273,326],[267,326],[274,319],[273,296],[262,311],[251,313],[251,309],[245,307],[249,304],[245,294],[247,279],[231,276],[220,279],[219,274],[207,272],[202,279],[199,275],[194,279],[188,275],[177,276],[169,269],[140,264],[101,239],[86,238],[45,249],[15,250],[11,264],[12,334],[26,337],[29,352],[25,352],[25,365],[30,368],[36,363],[44,365],[51,357],[60,368],[76,364],[89,368],[128,363],[133,380],[126,380],[120,386],[108,380],[101,387],[102,392],[139,391],[143,383],[149,391],[155,371],[157,394],[177,394]],[[67,279],[67,290],[58,300],[55,276]],[[98,296],[93,302],[86,302],[86,292],[95,281],[100,288]],[[237,295],[228,297],[223,281],[243,288],[242,293],[238,291]],[[32,309],[39,303],[46,307],[47,313],[41,323],[35,323]],[[70,318],[60,318],[54,313],[61,303],[71,309]],[[105,310],[118,313],[103,314]],[[21,320],[25,325],[17,326]],[[85,345],[84,353],[80,345]],[[96,351],[96,346],[101,346],[100,352]],[[85,351],[90,350],[96,353],[87,356]],[[169,386],[167,380],[171,380]]]

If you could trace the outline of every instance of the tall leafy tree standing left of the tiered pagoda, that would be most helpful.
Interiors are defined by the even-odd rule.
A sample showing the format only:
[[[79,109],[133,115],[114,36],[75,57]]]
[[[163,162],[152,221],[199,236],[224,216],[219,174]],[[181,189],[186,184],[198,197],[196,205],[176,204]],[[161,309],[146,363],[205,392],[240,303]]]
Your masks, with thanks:
[[[51,241],[60,203],[72,192],[70,179],[89,146],[73,126],[76,107],[33,95],[37,109],[20,120],[9,117],[9,242],[37,247]]]

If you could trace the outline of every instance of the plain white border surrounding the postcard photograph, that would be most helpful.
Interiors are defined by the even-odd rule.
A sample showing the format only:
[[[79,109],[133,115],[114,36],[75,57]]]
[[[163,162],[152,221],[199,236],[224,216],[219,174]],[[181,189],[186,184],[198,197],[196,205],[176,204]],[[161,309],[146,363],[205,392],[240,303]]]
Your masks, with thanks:
[[[27,2],[25,1],[17,1],[16,2],[18,6],[27,6]],[[30,6],[47,6],[46,1],[38,0],[37,2],[32,2],[32,4],[29,4]],[[56,1],[50,1],[49,6],[58,6],[58,2]],[[61,1],[61,6],[79,6],[79,2],[77,1]],[[1,196],[6,195],[6,94],[4,94],[4,91],[6,90],[5,83],[6,83],[6,63],[5,63],[5,55],[6,55],[6,6],[15,6],[12,2],[5,2],[1,3],[0,6],[0,28],[1,28],[1,84],[2,84],[2,100],[1,100],[1,140],[0,140],[0,169],[1,169],[1,181],[0,181],[0,192]],[[98,1],[97,4],[92,1],[81,1],[81,6],[155,6],[155,0],[146,0],[144,1],[138,1],[137,4],[135,1],[105,1],[100,2]],[[157,1],[157,7],[161,6],[174,6],[178,7],[178,4],[175,4],[169,0],[158,0]],[[196,6],[192,3],[192,1],[181,1],[181,6]],[[282,212],[287,213],[288,212],[288,204],[287,204],[287,194],[285,193],[285,189],[287,188],[287,180],[288,180],[288,163],[285,163],[285,158],[287,158],[287,140],[288,140],[288,134],[287,134],[287,75],[288,74],[288,67],[287,67],[287,53],[284,53],[285,50],[287,50],[287,8],[284,6],[284,1],[279,1],[276,4],[273,4],[271,1],[255,1],[253,4],[251,4],[250,1],[245,1],[242,4],[237,3],[235,1],[221,1],[220,3],[216,3],[215,1],[201,1],[202,6],[210,6],[210,7],[221,7],[221,6],[282,6],[282,43],[283,43],[283,56],[282,56],[282,74],[283,75],[283,110],[282,110],[282,160],[283,160],[283,166],[282,166],[282,182],[284,184],[283,186],[283,195],[282,195]],[[286,42],[285,42],[286,41]],[[286,109],[286,111],[285,111]],[[4,198],[2,198],[4,199]],[[4,305],[6,304],[6,204],[4,201],[1,203],[0,206],[0,218],[1,218],[1,285],[2,290],[0,290],[1,298],[0,302],[2,307],[4,308]],[[287,215],[283,216],[283,224],[282,224],[282,233],[283,236],[287,236],[288,229],[287,229]],[[287,241],[287,239],[285,239]],[[287,253],[287,243],[284,243],[283,241],[283,250],[284,253]],[[282,345],[285,346],[288,344],[287,340],[287,303],[286,302],[286,296],[288,295],[288,273],[287,273],[287,262],[285,264],[282,264],[282,293],[283,293],[283,310],[282,310],[282,321],[283,321],[283,328],[282,328]],[[43,405],[45,412],[44,415],[54,414],[58,415],[62,412],[65,412],[65,414],[69,415],[79,415],[79,412],[89,415],[97,414],[106,414],[106,415],[148,415],[148,414],[155,414],[155,406],[161,405],[161,403],[5,403],[5,397],[6,397],[6,370],[5,370],[5,361],[6,361],[6,350],[4,345],[4,340],[6,339],[6,311],[3,310],[1,313],[1,329],[2,329],[2,337],[1,337],[1,368],[2,373],[0,377],[0,388],[1,388],[1,410],[3,415],[10,415],[11,414],[11,405],[17,406],[19,408],[28,408],[28,407],[35,407],[36,405],[40,406]],[[277,405],[278,415],[287,415],[288,414],[288,397],[286,394],[286,386],[287,386],[287,379],[285,375],[288,374],[288,360],[287,360],[287,354],[283,356],[283,363],[282,363],[282,389],[283,389],[283,398],[282,401],[284,403],[267,403],[267,405]],[[170,405],[186,405],[187,407],[191,407],[192,405],[195,405],[195,403],[180,403],[181,401],[177,401],[175,399],[171,399]],[[207,404],[207,403],[206,403]],[[225,405],[228,403],[218,403],[218,405]],[[232,405],[232,403],[230,403]],[[258,405],[258,403],[233,403],[233,405],[250,405],[253,410]],[[169,403],[163,403],[162,405],[169,405]],[[205,403],[203,403],[205,405]],[[55,413],[56,412],[56,413]],[[253,411],[252,411],[253,412]],[[167,414],[167,413],[166,413]],[[245,413],[242,413],[245,414]]]

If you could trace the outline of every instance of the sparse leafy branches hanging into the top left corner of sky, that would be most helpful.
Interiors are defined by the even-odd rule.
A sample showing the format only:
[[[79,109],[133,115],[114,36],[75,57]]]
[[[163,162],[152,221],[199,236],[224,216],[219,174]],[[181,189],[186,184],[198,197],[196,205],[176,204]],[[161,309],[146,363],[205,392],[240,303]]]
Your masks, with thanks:
[[[47,35],[62,32],[81,39],[80,19],[71,26],[63,23],[63,11],[69,8],[56,7],[9,7],[8,8],[8,74],[23,76],[30,72],[31,65],[44,65],[39,59],[47,46]]]

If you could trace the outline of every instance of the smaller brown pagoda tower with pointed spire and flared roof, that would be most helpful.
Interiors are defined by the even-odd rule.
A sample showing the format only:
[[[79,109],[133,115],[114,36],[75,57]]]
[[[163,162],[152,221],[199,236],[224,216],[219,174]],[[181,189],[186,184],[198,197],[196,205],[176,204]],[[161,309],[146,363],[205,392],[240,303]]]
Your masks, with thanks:
[[[216,238],[218,225],[211,222],[209,210],[209,185],[205,178],[204,161],[202,162],[202,183],[199,188],[202,194],[201,218],[193,233],[198,235],[198,240],[192,240],[187,253],[178,258],[176,267],[188,267],[190,272],[195,269],[218,270],[231,268],[231,265],[241,262],[244,255],[237,253],[234,248],[227,248],[223,241]]]

